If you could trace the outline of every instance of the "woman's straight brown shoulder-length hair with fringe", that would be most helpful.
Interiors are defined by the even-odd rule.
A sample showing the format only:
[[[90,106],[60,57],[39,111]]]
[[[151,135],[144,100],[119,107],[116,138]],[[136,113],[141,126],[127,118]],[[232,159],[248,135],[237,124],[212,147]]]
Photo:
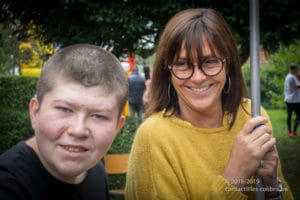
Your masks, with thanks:
[[[165,116],[180,113],[178,96],[170,81],[168,65],[178,58],[182,45],[187,51],[189,63],[192,63],[195,56],[201,59],[204,44],[208,44],[212,54],[226,58],[225,70],[231,81],[227,78],[223,88],[222,107],[224,114],[232,116],[232,127],[245,95],[245,84],[231,29],[224,18],[213,9],[187,9],[177,13],[167,23],[157,46],[147,116],[164,109]]]

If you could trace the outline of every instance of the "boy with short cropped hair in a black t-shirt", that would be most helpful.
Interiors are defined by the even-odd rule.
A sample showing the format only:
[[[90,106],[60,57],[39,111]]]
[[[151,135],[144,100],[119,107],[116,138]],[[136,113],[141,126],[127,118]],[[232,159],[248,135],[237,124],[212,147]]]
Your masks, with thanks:
[[[125,73],[93,45],[66,47],[44,65],[29,104],[35,136],[0,156],[1,199],[108,199],[101,158],[125,117]]]

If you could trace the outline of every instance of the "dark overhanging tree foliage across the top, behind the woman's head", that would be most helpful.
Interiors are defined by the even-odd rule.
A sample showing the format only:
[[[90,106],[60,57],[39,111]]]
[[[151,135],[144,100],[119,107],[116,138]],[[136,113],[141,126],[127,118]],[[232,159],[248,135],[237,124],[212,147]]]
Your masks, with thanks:
[[[163,27],[176,12],[191,7],[220,11],[236,34],[241,58],[249,55],[248,0],[2,0],[2,23],[20,22],[16,33],[22,37],[33,20],[49,41],[63,46],[93,43],[112,48],[116,55],[135,52],[152,54]],[[265,50],[299,38],[300,12],[296,0],[260,1],[260,38]],[[288,33],[288,34],[287,34]]]

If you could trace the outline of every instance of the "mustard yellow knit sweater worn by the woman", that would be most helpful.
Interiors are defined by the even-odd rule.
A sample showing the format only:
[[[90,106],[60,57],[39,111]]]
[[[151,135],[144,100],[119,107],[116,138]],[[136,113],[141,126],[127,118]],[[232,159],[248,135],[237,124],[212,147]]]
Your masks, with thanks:
[[[250,101],[244,107],[250,113]],[[262,115],[267,115],[263,109]],[[240,108],[229,131],[226,118],[223,127],[206,129],[176,117],[163,117],[162,112],[152,115],[134,139],[126,199],[254,199],[250,188],[237,191],[222,177],[236,134],[250,118],[251,114]],[[288,190],[285,199],[293,199],[280,165],[278,176]]]

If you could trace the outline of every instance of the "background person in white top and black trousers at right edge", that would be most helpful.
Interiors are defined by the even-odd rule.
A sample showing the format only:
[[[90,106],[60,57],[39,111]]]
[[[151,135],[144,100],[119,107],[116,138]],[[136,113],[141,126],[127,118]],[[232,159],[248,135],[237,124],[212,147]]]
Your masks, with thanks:
[[[284,81],[284,101],[287,110],[287,128],[290,137],[298,137],[297,127],[300,123],[300,82],[298,81],[298,65],[290,64],[290,71]],[[296,114],[292,129],[292,116]]]

